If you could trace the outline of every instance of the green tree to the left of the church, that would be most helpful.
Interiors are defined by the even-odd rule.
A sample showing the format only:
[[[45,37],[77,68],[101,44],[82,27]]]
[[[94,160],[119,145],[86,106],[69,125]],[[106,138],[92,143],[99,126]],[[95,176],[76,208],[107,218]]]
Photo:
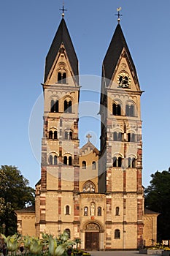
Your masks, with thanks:
[[[23,177],[18,167],[1,165],[0,168],[0,225],[4,223],[5,233],[17,231],[15,211],[34,204],[34,189]],[[1,231],[1,230],[0,230]]]

